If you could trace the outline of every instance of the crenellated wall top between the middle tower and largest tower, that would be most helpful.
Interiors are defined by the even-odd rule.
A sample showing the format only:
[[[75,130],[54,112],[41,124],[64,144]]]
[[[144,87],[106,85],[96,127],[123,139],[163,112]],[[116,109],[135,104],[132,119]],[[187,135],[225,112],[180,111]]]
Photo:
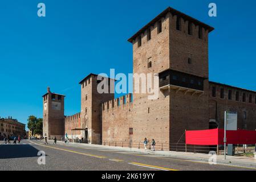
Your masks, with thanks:
[[[101,104],[101,106],[102,106],[102,111],[106,111],[109,109],[115,109],[115,108],[117,109],[120,106],[127,105],[130,103],[132,103],[131,93],[126,94],[125,96],[121,96],[119,98],[115,98],[114,100],[104,102],[103,104]]]

